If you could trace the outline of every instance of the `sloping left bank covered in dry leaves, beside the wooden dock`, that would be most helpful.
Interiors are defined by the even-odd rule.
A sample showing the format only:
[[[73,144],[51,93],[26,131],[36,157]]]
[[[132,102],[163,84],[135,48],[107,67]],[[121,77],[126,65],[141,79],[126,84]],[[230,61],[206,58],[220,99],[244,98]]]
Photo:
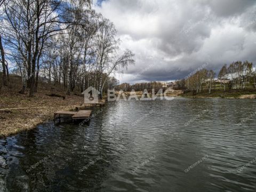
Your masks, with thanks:
[[[36,125],[53,119],[58,110],[74,110],[83,105],[84,98],[76,94],[65,94],[65,89],[55,86],[55,95],[51,97],[51,87],[41,83],[35,97],[18,93],[21,90],[21,77],[11,76],[8,87],[0,92],[0,138],[34,129]],[[63,96],[65,99],[63,99]]]

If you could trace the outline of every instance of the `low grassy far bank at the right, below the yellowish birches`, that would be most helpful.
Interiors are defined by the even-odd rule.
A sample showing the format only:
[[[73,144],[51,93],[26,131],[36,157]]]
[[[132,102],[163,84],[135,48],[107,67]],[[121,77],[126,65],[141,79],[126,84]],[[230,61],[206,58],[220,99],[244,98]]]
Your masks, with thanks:
[[[237,98],[237,99],[256,99],[256,90],[212,90],[209,94],[208,90],[203,90],[201,93],[188,91],[180,94],[181,97],[188,98]]]

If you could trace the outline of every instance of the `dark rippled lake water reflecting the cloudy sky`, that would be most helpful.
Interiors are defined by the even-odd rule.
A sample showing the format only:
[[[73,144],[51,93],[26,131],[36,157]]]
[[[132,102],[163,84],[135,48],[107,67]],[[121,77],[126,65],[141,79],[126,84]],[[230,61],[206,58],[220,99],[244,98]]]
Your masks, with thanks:
[[[0,140],[0,191],[256,191],[255,111],[243,99],[108,102],[90,125]]]

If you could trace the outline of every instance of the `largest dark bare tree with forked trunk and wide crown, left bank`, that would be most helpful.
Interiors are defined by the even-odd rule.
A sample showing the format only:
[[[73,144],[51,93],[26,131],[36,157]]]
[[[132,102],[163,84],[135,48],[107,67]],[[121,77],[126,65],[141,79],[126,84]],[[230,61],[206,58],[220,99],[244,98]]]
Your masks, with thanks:
[[[76,21],[60,19],[68,15],[66,11],[58,10],[63,7],[61,3],[62,1],[53,0],[10,0],[4,3],[6,21],[10,23],[11,33],[9,35],[14,40],[12,45],[18,46],[17,50],[26,60],[30,97],[34,96],[36,90],[35,81],[38,78],[39,59],[45,41],[58,31],[65,30],[76,23]],[[19,43],[16,43],[18,41]]]

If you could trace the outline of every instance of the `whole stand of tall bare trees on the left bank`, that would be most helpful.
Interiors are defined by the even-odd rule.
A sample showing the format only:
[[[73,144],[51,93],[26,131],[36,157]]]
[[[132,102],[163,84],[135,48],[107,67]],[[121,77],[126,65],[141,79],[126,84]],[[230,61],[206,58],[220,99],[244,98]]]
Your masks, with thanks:
[[[30,97],[38,81],[61,85],[67,94],[75,87],[94,86],[102,92],[115,86],[110,77],[134,63],[130,50],[119,53],[114,24],[91,9],[91,0],[1,1],[0,51],[3,84],[8,84],[8,62],[22,75],[22,90]],[[9,64],[10,65],[10,64]]]

